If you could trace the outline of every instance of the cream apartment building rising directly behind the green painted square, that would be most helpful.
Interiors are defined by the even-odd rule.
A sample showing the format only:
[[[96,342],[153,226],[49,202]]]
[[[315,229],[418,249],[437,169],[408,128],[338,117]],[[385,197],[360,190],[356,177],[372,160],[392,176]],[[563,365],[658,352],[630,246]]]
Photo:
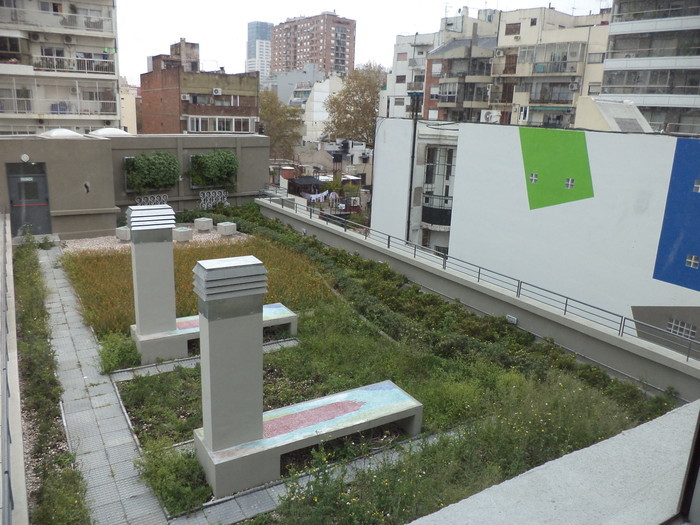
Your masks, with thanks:
[[[609,10],[571,16],[552,8],[503,12],[483,121],[566,128],[581,95],[600,93]]]

